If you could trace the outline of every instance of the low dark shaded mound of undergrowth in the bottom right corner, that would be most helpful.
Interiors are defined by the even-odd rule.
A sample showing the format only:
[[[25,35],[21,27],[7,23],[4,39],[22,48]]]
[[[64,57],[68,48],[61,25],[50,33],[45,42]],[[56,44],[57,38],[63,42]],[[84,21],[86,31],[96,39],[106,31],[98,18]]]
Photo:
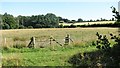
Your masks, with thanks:
[[[116,59],[114,56],[111,56],[112,52],[108,54],[103,53],[102,50],[97,50],[94,52],[77,53],[69,58],[68,63],[75,67],[84,68],[118,68],[120,66],[119,58]]]

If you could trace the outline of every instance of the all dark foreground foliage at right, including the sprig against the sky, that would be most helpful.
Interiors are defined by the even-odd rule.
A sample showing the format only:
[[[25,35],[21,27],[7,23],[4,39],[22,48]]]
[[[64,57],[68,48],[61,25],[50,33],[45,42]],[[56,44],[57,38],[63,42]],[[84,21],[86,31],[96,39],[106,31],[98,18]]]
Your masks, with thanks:
[[[116,11],[114,7],[113,15],[117,21],[116,23],[120,24],[120,15]],[[118,30],[118,35],[114,35],[110,33],[110,39],[114,40],[114,44],[111,45],[110,39],[107,38],[106,35],[101,35],[98,32],[96,33],[98,39],[96,43],[92,43],[96,45],[97,51],[93,52],[84,52],[73,55],[69,59],[69,63],[73,64],[73,66],[86,66],[86,67],[119,67],[120,66],[120,34]]]

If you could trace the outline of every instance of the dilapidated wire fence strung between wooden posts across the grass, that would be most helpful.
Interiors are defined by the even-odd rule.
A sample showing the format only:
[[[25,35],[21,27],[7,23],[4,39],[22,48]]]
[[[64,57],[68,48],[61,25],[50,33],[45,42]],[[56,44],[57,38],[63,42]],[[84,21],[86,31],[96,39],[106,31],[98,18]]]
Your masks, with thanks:
[[[63,46],[65,43],[72,43],[73,41],[70,41],[70,37],[63,37],[63,38],[54,38],[53,36],[40,38],[40,37],[34,37],[34,40],[27,39],[27,40],[20,40],[19,38],[15,40],[14,38],[3,38],[2,39],[2,46],[9,46],[12,47],[14,45],[23,45],[28,47],[29,45],[34,45],[34,47],[46,47],[51,45],[56,46]],[[68,39],[65,39],[68,38]],[[66,40],[69,40],[66,42]],[[34,43],[34,44],[32,44]]]

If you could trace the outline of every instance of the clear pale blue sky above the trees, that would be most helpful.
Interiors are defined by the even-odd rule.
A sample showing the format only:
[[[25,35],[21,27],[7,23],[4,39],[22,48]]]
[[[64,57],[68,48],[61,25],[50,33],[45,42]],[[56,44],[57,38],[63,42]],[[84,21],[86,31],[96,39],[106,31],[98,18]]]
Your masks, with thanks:
[[[113,16],[111,6],[118,9],[118,1],[102,1],[97,2],[92,0],[91,2],[86,0],[71,0],[71,1],[1,1],[0,2],[0,14],[7,12],[14,16],[24,15],[45,15],[47,13],[53,13],[56,16],[67,18],[70,20],[77,20],[82,18],[83,20],[96,20],[100,18],[111,19]]]

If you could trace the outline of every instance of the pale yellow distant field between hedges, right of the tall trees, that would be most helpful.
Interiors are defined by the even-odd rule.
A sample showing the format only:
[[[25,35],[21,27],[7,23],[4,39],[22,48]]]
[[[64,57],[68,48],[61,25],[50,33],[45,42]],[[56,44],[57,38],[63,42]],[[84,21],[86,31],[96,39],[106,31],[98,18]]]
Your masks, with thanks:
[[[114,23],[115,21],[98,21],[98,22],[79,22],[74,23],[73,25],[92,25],[92,24],[108,24],[108,23]],[[63,26],[70,26],[72,23],[60,23],[59,25]]]

